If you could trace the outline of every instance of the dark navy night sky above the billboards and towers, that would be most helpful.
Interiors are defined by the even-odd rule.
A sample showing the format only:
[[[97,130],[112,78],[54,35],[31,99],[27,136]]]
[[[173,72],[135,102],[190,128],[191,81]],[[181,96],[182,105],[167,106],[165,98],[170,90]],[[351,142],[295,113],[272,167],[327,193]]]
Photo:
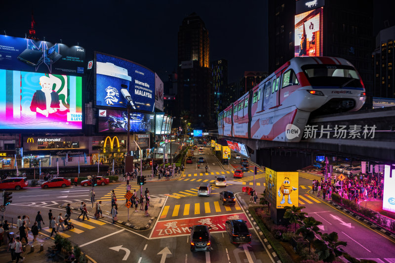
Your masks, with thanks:
[[[26,2],[26,3],[25,3]],[[229,81],[244,71],[267,71],[267,0],[259,1],[7,1],[1,4],[0,34],[24,38],[36,20],[36,36],[79,45],[87,60],[101,51],[137,62],[163,81],[177,69],[177,33],[196,12],[210,38],[210,61],[227,59]],[[37,4],[40,3],[40,4]],[[111,3],[111,4],[110,4]]]

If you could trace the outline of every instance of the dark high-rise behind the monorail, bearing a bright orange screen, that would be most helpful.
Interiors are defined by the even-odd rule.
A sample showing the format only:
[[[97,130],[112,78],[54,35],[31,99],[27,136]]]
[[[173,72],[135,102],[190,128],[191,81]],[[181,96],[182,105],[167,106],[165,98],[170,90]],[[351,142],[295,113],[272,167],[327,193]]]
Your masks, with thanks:
[[[372,107],[373,0],[273,0],[268,5],[269,69],[295,56],[330,56],[350,61]]]

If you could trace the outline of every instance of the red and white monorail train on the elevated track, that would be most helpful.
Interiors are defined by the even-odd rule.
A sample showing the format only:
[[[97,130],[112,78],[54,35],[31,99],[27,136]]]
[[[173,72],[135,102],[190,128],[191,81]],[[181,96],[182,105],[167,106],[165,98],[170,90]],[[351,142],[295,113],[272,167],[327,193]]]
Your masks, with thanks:
[[[312,113],[357,111],[365,99],[363,82],[347,60],[295,57],[219,113],[218,134],[299,142]]]

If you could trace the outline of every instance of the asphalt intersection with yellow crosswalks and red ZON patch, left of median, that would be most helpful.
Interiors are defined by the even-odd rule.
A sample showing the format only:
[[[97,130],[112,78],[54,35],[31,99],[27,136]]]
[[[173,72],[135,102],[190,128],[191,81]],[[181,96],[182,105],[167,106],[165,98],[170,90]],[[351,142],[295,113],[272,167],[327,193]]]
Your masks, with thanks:
[[[232,178],[232,171],[223,170],[214,155],[205,147],[203,156],[209,166],[208,173],[204,172],[204,165],[197,168],[196,163],[187,164],[184,176],[176,181],[148,182],[143,186],[149,188],[152,198],[167,197],[162,207],[158,221],[147,230],[136,231],[124,229],[118,225],[109,224],[103,220],[78,221],[75,214],[72,222],[74,230],[60,233],[72,242],[79,244],[82,250],[96,262],[229,262],[229,263],[263,263],[273,262],[257,236],[256,231],[248,221],[244,211],[236,206],[223,206],[219,202],[219,192],[226,189],[235,193],[241,192],[244,186],[252,185],[253,173],[245,173],[242,179]],[[214,184],[215,176],[227,176],[228,186],[217,188],[213,185],[213,192],[209,197],[197,197],[196,191],[201,182]],[[260,177],[259,177],[260,176]],[[258,178],[259,177],[259,178]],[[135,181],[131,181],[132,190],[139,189]],[[109,200],[111,190],[120,184],[95,187],[96,200]],[[263,191],[263,171],[257,175],[257,191]],[[13,202],[7,206],[5,219],[11,217],[16,221],[18,215],[28,215],[34,220],[40,211],[46,223],[43,234],[48,235],[49,209],[54,215],[65,213],[59,205],[64,202],[89,202],[89,190],[85,187],[68,188],[29,188],[14,191]],[[126,192],[126,188],[124,189]],[[118,194],[121,196],[122,194]],[[122,198],[118,198],[122,200]],[[224,229],[227,219],[244,219],[252,233],[253,242],[249,245],[234,245],[229,242],[229,236]],[[174,223],[177,222],[177,223]],[[33,222],[32,222],[33,223]],[[190,233],[188,226],[194,224],[209,224],[212,229],[212,246],[210,252],[190,251]],[[39,236],[43,238],[44,236]]]

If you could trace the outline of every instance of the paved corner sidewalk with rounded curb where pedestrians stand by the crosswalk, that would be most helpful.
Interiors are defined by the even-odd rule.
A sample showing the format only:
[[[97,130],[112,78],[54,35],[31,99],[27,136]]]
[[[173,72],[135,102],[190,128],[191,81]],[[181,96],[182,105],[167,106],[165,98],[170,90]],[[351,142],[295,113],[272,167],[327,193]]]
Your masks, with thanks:
[[[123,196],[122,196],[123,198]],[[135,230],[145,230],[150,228],[152,223],[155,221],[156,218],[158,218],[160,210],[164,204],[166,198],[151,198],[150,199],[150,205],[148,207],[148,213],[149,216],[145,217],[144,216],[144,206],[145,206],[145,201],[144,201],[144,206],[143,210],[140,210],[140,204],[137,206],[137,212],[135,212],[134,206],[129,208],[129,217],[128,217],[128,209],[125,206],[125,201],[118,201],[118,221],[117,223],[120,225],[125,225],[127,227],[133,228]],[[97,200],[100,200],[98,198]],[[77,217],[79,216],[79,205],[81,204],[80,202],[73,202],[70,203],[71,209],[76,210],[73,212],[71,218],[78,220]],[[60,205],[60,207],[63,207],[66,209],[67,203],[64,203]],[[96,204],[93,205],[94,207],[91,207],[91,203],[86,203],[86,210],[88,211],[88,217],[89,218],[94,218],[95,214],[95,206]],[[113,217],[111,216],[111,201],[102,201],[102,212],[103,212],[103,217],[104,220],[106,220],[109,223],[113,222]],[[82,220],[82,216],[81,216]]]

